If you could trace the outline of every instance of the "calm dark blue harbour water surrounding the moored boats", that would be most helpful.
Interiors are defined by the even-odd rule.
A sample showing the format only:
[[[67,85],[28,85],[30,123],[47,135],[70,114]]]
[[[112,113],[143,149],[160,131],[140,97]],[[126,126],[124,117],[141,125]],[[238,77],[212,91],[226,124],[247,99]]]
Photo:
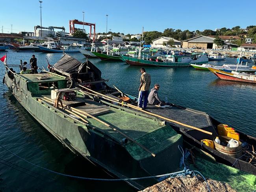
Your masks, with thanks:
[[[0,52],[2,57],[6,52]],[[7,52],[8,64],[29,61],[32,53]],[[38,66],[56,63],[62,54],[35,53]],[[70,54],[84,62],[80,53]],[[106,62],[90,59],[101,71],[109,85],[123,92],[137,95],[139,68],[124,62]],[[236,59],[211,62],[216,65],[234,64]],[[169,102],[207,112],[220,122],[237,130],[256,136],[255,107],[256,85],[223,81],[209,71],[192,67],[146,67],[152,85],[159,83],[160,96]],[[16,69],[18,72],[19,69]],[[4,76],[0,63],[0,76]],[[152,86],[151,86],[152,87]],[[45,131],[19,105],[6,85],[0,85],[0,144],[40,166],[57,172],[82,177],[111,178],[108,174],[65,149],[50,133]],[[135,191],[124,182],[96,182],[70,179],[48,173],[14,157],[0,148],[0,190],[2,191]]]

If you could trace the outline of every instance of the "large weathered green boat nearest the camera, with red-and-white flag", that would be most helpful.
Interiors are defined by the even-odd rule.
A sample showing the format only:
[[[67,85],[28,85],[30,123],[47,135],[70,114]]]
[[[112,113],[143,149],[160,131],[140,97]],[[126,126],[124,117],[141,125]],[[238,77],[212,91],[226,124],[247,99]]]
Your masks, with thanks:
[[[80,68],[86,73],[85,65],[80,63]],[[67,88],[67,78],[58,74],[9,77],[7,71],[4,83],[35,120],[64,146],[112,175],[144,177],[179,169],[182,135],[169,124],[113,103],[93,101],[83,90]],[[127,182],[143,189],[158,180]]]

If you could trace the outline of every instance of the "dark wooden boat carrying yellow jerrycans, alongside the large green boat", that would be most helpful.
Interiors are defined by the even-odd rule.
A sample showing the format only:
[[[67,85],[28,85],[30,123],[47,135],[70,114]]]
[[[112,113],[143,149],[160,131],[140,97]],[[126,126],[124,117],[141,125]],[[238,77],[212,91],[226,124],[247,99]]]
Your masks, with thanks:
[[[74,62],[74,60],[72,60],[72,62]],[[58,63],[58,65],[62,66],[58,71],[65,74],[65,66],[63,66],[62,63],[69,65],[69,62],[67,62],[67,60],[63,60]],[[56,65],[56,68],[58,68],[58,65]],[[89,68],[91,68],[90,63],[85,63],[85,65],[89,65]],[[78,70],[74,69],[72,69],[72,71],[78,72]],[[66,72],[68,72],[68,70]],[[98,72],[96,72],[96,74],[98,74]],[[69,73],[66,73],[65,75],[69,76]],[[79,74],[76,76],[80,77]],[[256,159],[250,157],[250,154],[247,154],[246,152],[253,151],[252,146],[256,146],[256,138],[241,133],[240,131],[236,131],[240,135],[240,141],[244,144],[242,151],[244,156],[240,158],[233,157],[231,155],[224,154],[215,148],[213,149],[202,144],[201,140],[214,140],[214,138],[219,135],[217,126],[221,124],[221,122],[218,122],[207,113],[175,104],[173,104],[169,109],[162,109],[155,105],[148,105],[147,109],[142,110],[136,107],[136,97],[131,96],[130,94],[124,94],[116,88],[109,87],[106,84],[106,80],[83,79],[83,83],[81,83],[81,81],[75,81],[78,87],[81,88],[81,86],[83,86],[82,88],[85,90],[85,95],[87,97],[98,102],[106,103],[107,105],[120,105],[122,106],[122,109],[128,107],[130,110],[135,111],[135,113],[141,112],[151,118],[164,120],[174,127],[177,133],[182,134],[187,143],[191,146],[197,147],[199,150],[202,150],[202,152],[213,157],[217,162],[233,166],[250,174],[256,174]],[[130,100],[128,100],[129,102],[124,102],[123,96],[130,98]],[[250,153],[253,154],[253,152]],[[253,160],[252,162],[249,162],[250,158]]]

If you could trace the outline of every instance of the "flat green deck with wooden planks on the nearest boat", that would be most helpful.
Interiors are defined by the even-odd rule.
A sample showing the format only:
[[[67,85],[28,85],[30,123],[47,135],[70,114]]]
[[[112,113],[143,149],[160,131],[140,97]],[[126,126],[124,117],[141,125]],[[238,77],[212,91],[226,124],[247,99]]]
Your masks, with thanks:
[[[50,98],[49,95],[44,96]],[[82,111],[85,111],[86,113],[92,114],[96,118],[119,129],[120,131],[122,131],[122,133],[125,133],[127,136],[133,138],[134,140],[163,127],[169,127],[161,125],[159,121],[154,121],[150,118],[145,118],[143,116],[135,115],[133,113],[121,111],[113,107],[108,107],[98,102],[80,97],[79,95],[74,101],[62,101],[62,103],[65,105],[71,105],[76,109],[80,109]],[[119,142],[121,142],[121,140],[124,138],[124,136],[120,133],[114,131],[113,129],[105,126],[104,124],[98,122],[93,118],[87,118],[86,120],[93,127],[97,127],[98,129],[107,133]],[[170,127],[170,129],[172,128]],[[177,133],[173,134],[177,135]]]

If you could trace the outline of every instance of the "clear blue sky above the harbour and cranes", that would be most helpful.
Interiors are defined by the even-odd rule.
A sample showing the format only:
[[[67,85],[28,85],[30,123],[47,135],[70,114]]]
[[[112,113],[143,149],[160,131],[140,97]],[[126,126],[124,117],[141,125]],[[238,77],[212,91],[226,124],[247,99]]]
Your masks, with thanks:
[[[0,29],[4,26],[4,33],[10,33],[13,24],[13,32],[33,32],[33,26],[40,25],[39,6],[38,0],[1,1]],[[249,11],[256,1],[247,0],[43,0],[42,7],[42,26],[64,26],[67,32],[69,20],[83,20],[82,11],[85,22],[96,23],[96,32],[106,31],[106,14],[108,29],[124,34],[141,33],[142,26],[144,31],[194,31],[256,25],[256,14]]]

